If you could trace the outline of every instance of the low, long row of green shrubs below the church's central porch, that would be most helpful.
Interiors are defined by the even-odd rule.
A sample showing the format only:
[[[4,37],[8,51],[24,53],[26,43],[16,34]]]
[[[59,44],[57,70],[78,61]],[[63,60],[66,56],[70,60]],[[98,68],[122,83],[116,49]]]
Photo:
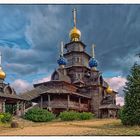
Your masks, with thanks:
[[[59,117],[63,121],[89,120],[93,118],[93,114],[89,112],[64,111],[60,113]]]

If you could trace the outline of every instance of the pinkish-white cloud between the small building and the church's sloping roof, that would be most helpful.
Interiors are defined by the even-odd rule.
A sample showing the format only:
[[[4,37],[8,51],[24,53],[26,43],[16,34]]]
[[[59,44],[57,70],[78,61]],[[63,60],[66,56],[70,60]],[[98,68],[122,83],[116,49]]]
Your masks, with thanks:
[[[28,90],[31,90],[33,88],[32,84],[22,80],[22,79],[17,79],[15,80],[11,86],[15,89],[15,91],[17,92],[17,94],[19,93],[24,93]]]

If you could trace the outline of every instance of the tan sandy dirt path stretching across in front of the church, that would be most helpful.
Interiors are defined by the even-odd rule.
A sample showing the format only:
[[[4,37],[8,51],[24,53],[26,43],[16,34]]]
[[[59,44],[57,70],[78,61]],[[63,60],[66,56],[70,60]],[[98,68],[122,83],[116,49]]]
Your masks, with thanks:
[[[0,135],[86,135],[88,131],[96,131],[93,125],[100,126],[109,123],[107,121],[89,120],[73,122],[49,122],[32,124],[23,128],[9,128],[0,132]]]

